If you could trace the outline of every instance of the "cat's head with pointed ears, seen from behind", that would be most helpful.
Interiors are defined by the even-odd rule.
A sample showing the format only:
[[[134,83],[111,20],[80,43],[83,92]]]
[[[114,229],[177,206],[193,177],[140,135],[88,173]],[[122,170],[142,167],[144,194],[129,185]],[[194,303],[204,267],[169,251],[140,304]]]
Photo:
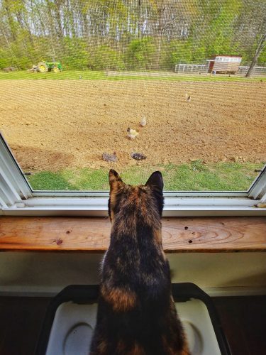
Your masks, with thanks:
[[[163,209],[163,180],[160,171],[155,171],[145,185],[127,185],[115,170],[109,171],[110,197],[109,217],[160,219]]]

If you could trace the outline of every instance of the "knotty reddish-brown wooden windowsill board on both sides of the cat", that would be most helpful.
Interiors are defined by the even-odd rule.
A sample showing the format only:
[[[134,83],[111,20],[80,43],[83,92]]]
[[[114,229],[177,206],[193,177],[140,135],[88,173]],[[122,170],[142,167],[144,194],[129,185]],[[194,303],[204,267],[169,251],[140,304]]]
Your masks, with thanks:
[[[107,218],[0,217],[1,251],[104,252]],[[266,251],[266,217],[167,217],[166,252]]]

